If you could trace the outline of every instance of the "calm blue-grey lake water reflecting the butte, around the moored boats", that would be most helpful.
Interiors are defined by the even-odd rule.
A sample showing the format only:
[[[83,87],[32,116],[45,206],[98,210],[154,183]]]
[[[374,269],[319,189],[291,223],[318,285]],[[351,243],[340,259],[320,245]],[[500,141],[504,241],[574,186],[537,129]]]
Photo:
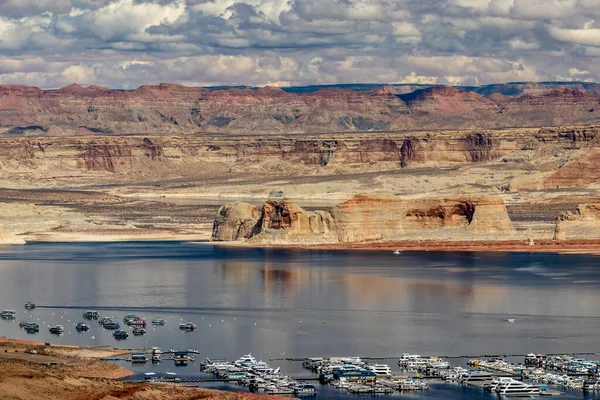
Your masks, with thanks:
[[[585,255],[394,255],[186,243],[5,247],[0,248],[0,308],[18,310],[17,321],[39,319],[42,329],[28,337],[16,322],[0,321],[0,336],[132,349],[197,348],[200,359],[236,359],[248,352],[265,360],[596,352],[599,261]],[[26,313],[26,301],[40,307]],[[90,332],[74,330],[87,308],[119,319],[131,312],[161,316],[168,323],[116,342],[95,322]],[[198,330],[182,332],[180,321],[194,321]],[[65,325],[66,333],[50,335],[44,326],[51,324]],[[310,376],[299,363],[270,363],[293,376]],[[134,367],[139,374],[172,370],[164,362]],[[199,375],[197,363],[176,372]],[[402,395],[490,396],[444,384]],[[584,397],[576,392],[562,398]]]

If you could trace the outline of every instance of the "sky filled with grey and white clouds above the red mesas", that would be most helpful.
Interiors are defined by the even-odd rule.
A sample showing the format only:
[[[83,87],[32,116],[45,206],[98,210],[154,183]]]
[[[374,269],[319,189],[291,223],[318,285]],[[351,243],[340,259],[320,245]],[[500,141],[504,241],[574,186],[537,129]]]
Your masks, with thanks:
[[[0,84],[600,81],[600,0],[0,0]]]

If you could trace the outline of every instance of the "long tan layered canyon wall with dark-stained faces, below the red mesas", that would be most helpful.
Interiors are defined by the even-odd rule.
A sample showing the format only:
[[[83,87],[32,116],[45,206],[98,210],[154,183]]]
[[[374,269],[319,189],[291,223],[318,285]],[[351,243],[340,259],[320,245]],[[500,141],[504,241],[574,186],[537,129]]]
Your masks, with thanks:
[[[546,187],[600,179],[598,127],[522,128],[302,136],[11,137],[0,140],[0,178],[47,182],[85,179],[152,182],[261,171],[302,175],[393,171],[421,166],[535,162],[558,151],[576,155]],[[586,165],[587,165],[586,164]],[[583,166],[582,166],[583,165]],[[574,179],[577,178],[577,179]],[[527,188],[527,185],[523,185]]]

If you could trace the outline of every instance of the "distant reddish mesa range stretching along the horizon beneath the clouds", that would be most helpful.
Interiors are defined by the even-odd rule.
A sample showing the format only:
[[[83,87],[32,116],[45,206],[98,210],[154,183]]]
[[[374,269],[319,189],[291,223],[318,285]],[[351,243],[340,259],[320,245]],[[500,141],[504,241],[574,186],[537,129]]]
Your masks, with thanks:
[[[395,94],[280,88],[209,90],[145,85],[133,91],[71,85],[59,90],[0,86],[5,136],[325,133],[420,129],[492,129],[600,123],[595,91],[548,86],[546,92],[499,92],[434,86]],[[506,92],[505,92],[506,93]]]

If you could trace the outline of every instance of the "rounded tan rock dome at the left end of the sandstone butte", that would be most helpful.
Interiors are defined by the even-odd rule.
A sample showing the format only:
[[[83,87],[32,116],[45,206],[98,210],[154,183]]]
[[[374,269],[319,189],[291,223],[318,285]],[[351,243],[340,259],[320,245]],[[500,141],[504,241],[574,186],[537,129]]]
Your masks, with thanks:
[[[259,218],[258,209],[248,203],[227,203],[217,211],[212,240],[236,241],[252,237]]]

